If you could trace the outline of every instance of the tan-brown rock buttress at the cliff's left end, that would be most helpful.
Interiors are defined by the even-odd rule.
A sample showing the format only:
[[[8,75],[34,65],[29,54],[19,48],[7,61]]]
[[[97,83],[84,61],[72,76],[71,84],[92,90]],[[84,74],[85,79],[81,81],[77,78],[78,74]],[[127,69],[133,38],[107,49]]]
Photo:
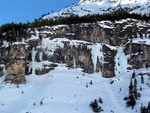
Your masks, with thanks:
[[[25,83],[26,49],[25,44],[13,44],[9,50],[9,61],[6,63],[5,81]]]

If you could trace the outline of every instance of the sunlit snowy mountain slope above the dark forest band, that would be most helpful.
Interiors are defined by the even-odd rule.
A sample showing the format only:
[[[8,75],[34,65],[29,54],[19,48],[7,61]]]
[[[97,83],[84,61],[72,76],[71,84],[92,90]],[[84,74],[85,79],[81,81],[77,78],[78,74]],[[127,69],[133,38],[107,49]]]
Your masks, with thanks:
[[[62,9],[60,12],[46,15],[43,19],[72,14],[84,16],[87,14],[110,13],[115,10],[125,9],[130,13],[149,14],[149,0],[81,0],[78,4]]]

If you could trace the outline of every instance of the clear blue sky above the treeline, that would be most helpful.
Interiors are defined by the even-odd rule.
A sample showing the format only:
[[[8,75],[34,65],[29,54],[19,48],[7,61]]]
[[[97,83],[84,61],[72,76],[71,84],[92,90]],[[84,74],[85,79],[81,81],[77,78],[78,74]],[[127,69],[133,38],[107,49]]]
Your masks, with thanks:
[[[43,14],[60,11],[79,0],[0,0],[0,25],[32,22]]]

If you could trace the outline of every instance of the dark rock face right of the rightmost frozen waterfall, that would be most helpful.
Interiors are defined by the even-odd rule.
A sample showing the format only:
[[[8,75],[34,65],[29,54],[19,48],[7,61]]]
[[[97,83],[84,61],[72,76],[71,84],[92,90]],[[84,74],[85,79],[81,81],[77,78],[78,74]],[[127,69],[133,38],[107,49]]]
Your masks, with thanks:
[[[146,67],[150,63],[150,45],[128,43],[125,52],[129,55],[128,64],[133,69]]]

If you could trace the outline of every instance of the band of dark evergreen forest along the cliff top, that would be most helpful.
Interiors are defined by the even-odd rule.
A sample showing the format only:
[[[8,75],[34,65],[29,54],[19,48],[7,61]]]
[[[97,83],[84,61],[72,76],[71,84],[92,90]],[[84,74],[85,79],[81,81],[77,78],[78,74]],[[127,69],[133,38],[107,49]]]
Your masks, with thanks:
[[[126,11],[116,11],[107,14],[97,14],[97,15],[85,15],[79,17],[78,15],[70,15],[67,17],[58,17],[51,19],[35,19],[34,22],[27,23],[8,23],[0,26],[0,41],[20,41],[22,38],[29,38],[29,28],[38,28],[41,26],[52,26],[59,24],[77,24],[77,23],[93,23],[102,20],[120,20],[126,18],[133,18],[137,20],[143,20],[148,22],[150,20],[150,15],[140,15],[140,14],[130,14]]]

